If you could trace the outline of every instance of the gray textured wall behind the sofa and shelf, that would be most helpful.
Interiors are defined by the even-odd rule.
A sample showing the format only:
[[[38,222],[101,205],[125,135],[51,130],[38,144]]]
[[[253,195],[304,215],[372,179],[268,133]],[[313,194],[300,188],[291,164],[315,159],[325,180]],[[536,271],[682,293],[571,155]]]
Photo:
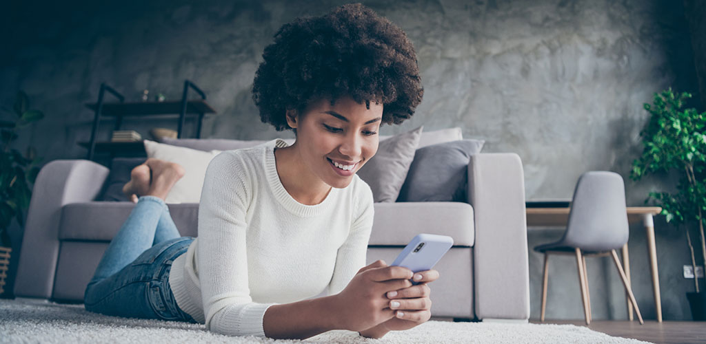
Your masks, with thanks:
[[[81,158],[101,82],[139,99],[147,88],[177,99],[185,78],[208,93],[220,113],[205,120],[204,137],[267,139],[251,100],[263,48],[280,25],[318,15],[343,1],[109,1],[52,8],[20,4],[0,14],[0,102],[25,90],[47,118],[18,145],[37,147],[46,161]],[[528,199],[570,198],[584,171],[609,170],[626,179],[628,205],[647,192],[673,188],[667,176],[634,183],[630,164],[642,150],[643,102],[668,86],[697,92],[693,51],[681,1],[367,1],[414,42],[424,101],[414,118],[383,134],[424,125],[460,126],[486,140],[484,152],[515,152],[525,167]],[[143,136],[165,121],[126,121]],[[107,126],[105,127],[107,128]],[[191,128],[191,127],[189,127]],[[190,135],[189,131],[186,132]],[[102,133],[107,137],[107,130]],[[686,240],[657,219],[664,319],[690,319],[681,277]],[[561,231],[536,229],[530,247]],[[633,285],[647,319],[654,301],[645,234],[631,228]],[[611,262],[590,259],[594,319],[625,319],[622,285]],[[575,262],[550,263],[549,319],[582,319]],[[542,257],[530,254],[532,317],[539,315]]]

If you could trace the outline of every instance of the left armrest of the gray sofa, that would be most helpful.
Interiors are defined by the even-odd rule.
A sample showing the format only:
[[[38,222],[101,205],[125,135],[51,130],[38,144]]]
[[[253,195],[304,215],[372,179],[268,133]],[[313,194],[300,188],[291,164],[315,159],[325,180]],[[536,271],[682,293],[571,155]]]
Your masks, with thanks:
[[[61,208],[95,199],[108,172],[108,168],[88,160],[55,160],[42,167],[25,223],[15,295],[52,297]]]

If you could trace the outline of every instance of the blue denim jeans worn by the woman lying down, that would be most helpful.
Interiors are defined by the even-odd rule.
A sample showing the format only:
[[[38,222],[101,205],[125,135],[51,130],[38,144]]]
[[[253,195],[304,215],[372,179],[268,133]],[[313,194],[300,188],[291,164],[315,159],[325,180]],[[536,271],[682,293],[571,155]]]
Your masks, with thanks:
[[[189,321],[169,288],[172,262],[193,241],[181,237],[159,197],[138,199],[83,294],[84,307],[119,317]]]

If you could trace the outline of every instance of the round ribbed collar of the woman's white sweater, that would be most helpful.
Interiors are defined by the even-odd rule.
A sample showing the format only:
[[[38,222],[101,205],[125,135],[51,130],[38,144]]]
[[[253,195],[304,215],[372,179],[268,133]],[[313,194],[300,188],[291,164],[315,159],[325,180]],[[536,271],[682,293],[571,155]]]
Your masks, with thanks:
[[[275,139],[267,142],[265,145],[265,173],[267,174],[268,184],[270,184],[270,189],[273,191],[277,201],[282,204],[287,210],[291,211],[293,214],[309,217],[321,214],[325,209],[330,207],[330,204],[334,202],[335,195],[337,194],[337,188],[331,188],[326,195],[326,198],[319,204],[307,205],[301,204],[297,199],[294,199],[292,195],[285,189],[282,185],[282,180],[280,180],[280,175],[277,173],[277,164],[275,161],[275,147],[282,148],[287,147],[287,142],[281,139]]]

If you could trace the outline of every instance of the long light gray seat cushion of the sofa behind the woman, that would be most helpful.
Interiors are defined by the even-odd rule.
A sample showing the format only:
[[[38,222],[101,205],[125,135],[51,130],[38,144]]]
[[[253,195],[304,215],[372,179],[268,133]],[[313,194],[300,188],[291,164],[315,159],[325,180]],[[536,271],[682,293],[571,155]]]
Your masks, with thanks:
[[[110,241],[135,204],[85,202],[62,208],[59,240]],[[198,204],[169,204],[183,236],[196,237]],[[460,202],[376,203],[369,245],[405,246],[419,233],[449,235],[455,246],[473,246],[473,208]]]

